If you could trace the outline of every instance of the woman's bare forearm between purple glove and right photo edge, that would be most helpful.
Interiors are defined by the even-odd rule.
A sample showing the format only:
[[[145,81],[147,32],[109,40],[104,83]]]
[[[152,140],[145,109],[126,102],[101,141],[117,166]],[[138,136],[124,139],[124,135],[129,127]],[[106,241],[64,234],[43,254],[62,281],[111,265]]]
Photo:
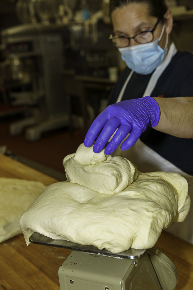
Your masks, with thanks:
[[[154,129],[180,138],[193,138],[193,97],[154,99],[161,112]]]

